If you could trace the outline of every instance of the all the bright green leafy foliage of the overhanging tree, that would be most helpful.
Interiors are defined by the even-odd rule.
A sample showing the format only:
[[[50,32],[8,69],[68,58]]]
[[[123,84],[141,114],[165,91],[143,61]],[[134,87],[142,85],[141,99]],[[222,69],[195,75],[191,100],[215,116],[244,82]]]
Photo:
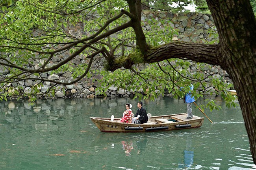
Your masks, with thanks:
[[[173,3],[178,5],[176,9],[172,9],[176,12],[183,11],[189,1],[147,1],[149,6],[165,10],[170,9]],[[113,19],[120,14],[121,9],[129,11],[125,1],[44,0],[38,3],[37,0],[9,0],[3,4],[2,13],[0,13],[2,46],[0,55],[5,69],[10,73],[1,80],[1,99],[19,95],[23,90],[14,89],[8,83],[27,79],[36,81],[37,83],[27,94],[30,101],[35,101],[36,96],[42,95],[40,88],[46,81],[51,82],[51,88],[46,94],[54,96],[56,90],[62,88],[57,85],[69,85],[83,77],[89,79],[96,74],[103,76],[98,80],[101,86],[97,88],[97,92],[105,96],[111,86],[133,92],[134,98],[139,99],[154,99],[166,93],[173,94],[174,98],[182,98],[189,90],[191,83],[195,87],[193,91],[195,98],[208,93],[215,94],[216,91],[208,90],[209,86],[215,87],[220,92],[230,88],[223,83],[223,80],[212,78],[212,75],[207,77],[211,81],[206,82],[203,71],[200,71],[205,64],[197,63],[196,69],[199,71],[191,72],[191,62],[180,59],[169,59],[152,64],[141,63],[134,65],[132,70],[118,69],[108,72],[99,69],[101,61],[104,61],[102,55],[99,55],[101,49],[106,49],[107,52],[104,53],[107,55],[106,59],[113,57],[118,60],[134,52],[134,61],[142,62],[140,55],[136,56],[134,29],[128,26],[113,31],[130,21],[130,17],[126,15]],[[172,42],[173,36],[178,35],[177,30],[171,27],[173,24],[171,20],[152,17],[141,24],[150,47]],[[76,31],[71,31],[70,27],[74,27]],[[109,33],[111,31],[116,34]],[[215,38],[210,43],[216,43],[217,34],[213,35]],[[84,62],[76,62],[76,58],[82,58]],[[93,67],[90,64],[91,60]],[[56,61],[59,63],[56,64]],[[89,71],[86,72],[87,69]],[[72,78],[67,80],[67,83],[44,79],[39,74],[44,70],[50,74],[70,72]],[[180,87],[184,89],[181,90]],[[9,93],[4,92],[5,90]],[[229,103],[234,101],[233,98],[227,97],[228,93],[222,96]],[[214,105],[213,102],[210,103]]]

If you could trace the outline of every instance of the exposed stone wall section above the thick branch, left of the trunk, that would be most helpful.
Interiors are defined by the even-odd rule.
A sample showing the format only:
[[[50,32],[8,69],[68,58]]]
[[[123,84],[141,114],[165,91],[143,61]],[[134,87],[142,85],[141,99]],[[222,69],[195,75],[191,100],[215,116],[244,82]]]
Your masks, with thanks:
[[[169,23],[171,27],[177,29],[178,36],[174,35],[174,40],[184,42],[210,42],[214,40],[214,35],[217,34],[217,29],[214,25],[213,17],[210,14],[202,13],[150,13],[150,11],[143,11],[141,21],[145,22],[147,18],[154,18],[155,20],[171,20]],[[159,26],[163,26],[159,23]],[[147,25],[145,28],[147,29]],[[210,34],[209,31],[213,34]],[[215,34],[214,34],[215,33]]]

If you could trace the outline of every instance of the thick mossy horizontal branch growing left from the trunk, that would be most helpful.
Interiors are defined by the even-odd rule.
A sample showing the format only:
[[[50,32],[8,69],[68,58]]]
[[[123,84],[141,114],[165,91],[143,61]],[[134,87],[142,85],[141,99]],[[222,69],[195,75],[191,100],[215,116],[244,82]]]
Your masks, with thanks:
[[[149,49],[145,55],[137,52],[137,54],[130,54],[129,56],[111,61],[107,68],[109,68],[109,71],[115,71],[121,67],[130,69],[133,64],[141,63],[139,58],[144,58],[142,61],[144,63],[154,63],[169,58],[180,58],[212,65],[222,65],[219,61],[218,49],[218,45],[185,42],[168,43]]]

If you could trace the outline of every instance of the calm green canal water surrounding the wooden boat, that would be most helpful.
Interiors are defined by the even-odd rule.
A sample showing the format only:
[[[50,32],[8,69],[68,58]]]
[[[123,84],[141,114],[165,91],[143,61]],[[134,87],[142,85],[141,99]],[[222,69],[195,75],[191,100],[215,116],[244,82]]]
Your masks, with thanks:
[[[197,101],[200,103],[203,101]],[[3,170],[252,170],[241,109],[205,110],[201,128],[145,133],[104,133],[89,119],[121,117],[130,98],[0,102]],[[186,112],[182,100],[143,101],[154,115]],[[193,114],[204,115],[193,105]]]

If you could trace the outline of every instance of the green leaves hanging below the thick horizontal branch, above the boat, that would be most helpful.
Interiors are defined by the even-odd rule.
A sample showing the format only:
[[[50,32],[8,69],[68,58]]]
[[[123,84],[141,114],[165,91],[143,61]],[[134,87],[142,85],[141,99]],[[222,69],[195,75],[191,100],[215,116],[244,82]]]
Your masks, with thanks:
[[[217,94],[225,99],[227,107],[236,106],[236,96],[226,92],[226,89],[233,88],[232,84],[214,78],[213,75],[205,77],[202,68],[210,66],[204,63],[197,63],[198,71],[194,73],[189,72],[190,65],[190,61],[169,59],[144,66],[137,65],[132,71],[121,69],[113,73],[103,71],[101,72],[104,75],[103,78],[98,80],[101,83],[101,87],[97,88],[98,94],[107,96],[107,89],[114,86],[133,92],[134,99],[138,98],[139,100],[148,98],[153,100],[157,96],[165,94],[173,94],[174,98],[183,98],[185,93],[191,91],[189,85],[193,84],[192,95],[195,99],[208,96],[209,102],[207,105],[202,105],[202,108],[220,109],[221,107],[214,102]],[[210,81],[206,82],[206,79]],[[210,89],[210,86],[214,86],[215,90]]]

